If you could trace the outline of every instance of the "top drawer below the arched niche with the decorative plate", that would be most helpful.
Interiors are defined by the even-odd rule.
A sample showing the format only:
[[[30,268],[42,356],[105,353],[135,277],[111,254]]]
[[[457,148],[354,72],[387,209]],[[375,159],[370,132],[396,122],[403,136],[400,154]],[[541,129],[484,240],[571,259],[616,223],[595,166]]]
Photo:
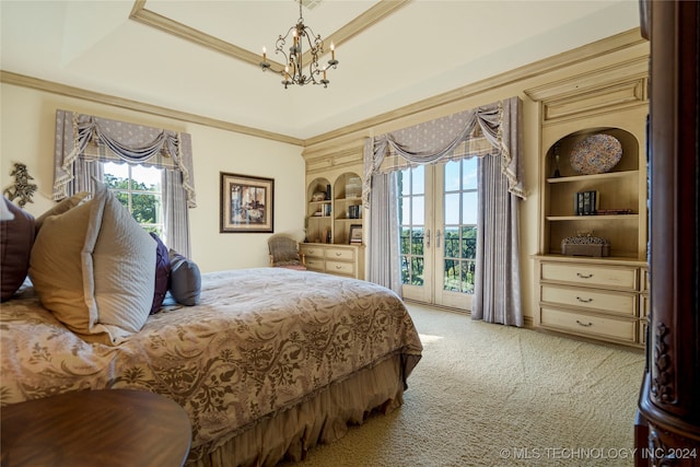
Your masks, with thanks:
[[[542,262],[541,280],[578,285],[637,290],[638,269],[626,266],[587,266],[583,264]]]

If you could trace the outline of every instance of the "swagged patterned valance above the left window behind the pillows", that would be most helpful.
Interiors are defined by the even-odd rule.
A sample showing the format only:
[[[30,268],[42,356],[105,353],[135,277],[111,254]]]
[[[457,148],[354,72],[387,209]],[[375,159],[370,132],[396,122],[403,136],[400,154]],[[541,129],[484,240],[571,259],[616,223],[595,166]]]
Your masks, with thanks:
[[[92,115],[56,110],[55,200],[67,197],[78,157],[175,170],[182,174],[187,207],[197,206],[191,136]]]

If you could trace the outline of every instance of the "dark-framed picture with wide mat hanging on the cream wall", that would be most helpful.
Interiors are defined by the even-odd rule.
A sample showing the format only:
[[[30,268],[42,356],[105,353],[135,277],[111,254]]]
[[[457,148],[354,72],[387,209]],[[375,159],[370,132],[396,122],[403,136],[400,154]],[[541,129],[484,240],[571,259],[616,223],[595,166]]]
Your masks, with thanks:
[[[275,232],[275,179],[221,172],[220,233]]]

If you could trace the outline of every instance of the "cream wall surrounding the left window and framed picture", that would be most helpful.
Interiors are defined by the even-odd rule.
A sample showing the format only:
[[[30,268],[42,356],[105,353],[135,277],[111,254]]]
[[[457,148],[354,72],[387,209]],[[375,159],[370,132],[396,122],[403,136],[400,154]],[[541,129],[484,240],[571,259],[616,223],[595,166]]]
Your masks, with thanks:
[[[275,232],[304,236],[302,148],[201,125],[7,83],[0,84],[0,187],[14,179],[15,162],[26,164],[38,186],[25,209],[38,215],[51,205],[54,121],[57,108],[185,131],[192,136],[197,208],[190,209],[191,256],[202,271],[268,265],[269,234],[219,233],[219,173],[275,178]]]

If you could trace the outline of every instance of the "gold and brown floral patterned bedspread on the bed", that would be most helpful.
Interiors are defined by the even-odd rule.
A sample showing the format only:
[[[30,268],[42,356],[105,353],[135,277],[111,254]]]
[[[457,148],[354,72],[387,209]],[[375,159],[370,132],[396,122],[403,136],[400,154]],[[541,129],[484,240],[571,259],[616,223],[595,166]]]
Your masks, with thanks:
[[[80,389],[133,388],[177,401],[199,457],[258,418],[421,343],[392,291],[279,268],[202,276],[200,305],[171,307],[118,347],[88,343],[27,288],[0,310],[0,405]]]

